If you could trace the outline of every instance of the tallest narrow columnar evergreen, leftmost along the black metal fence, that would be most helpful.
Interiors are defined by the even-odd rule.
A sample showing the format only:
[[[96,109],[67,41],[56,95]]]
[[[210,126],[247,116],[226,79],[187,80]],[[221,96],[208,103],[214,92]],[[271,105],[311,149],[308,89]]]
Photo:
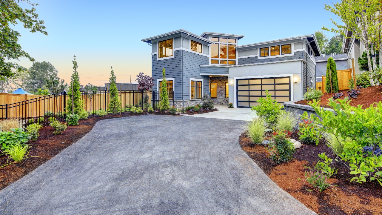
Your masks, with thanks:
[[[70,77],[70,86],[68,91],[68,102],[66,103],[66,111],[68,114],[71,114],[72,111],[74,114],[79,114],[81,111],[83,111],[82,108],[82,101],[81,101],[81,92],[79,91],[79,75],[77,72],[77,60],[76,55],[73,56],[73,73]],[[73,91],[72,91],[73,87]],[[73,105],[74,109],[72,110],[72,95],[73,95]]]

